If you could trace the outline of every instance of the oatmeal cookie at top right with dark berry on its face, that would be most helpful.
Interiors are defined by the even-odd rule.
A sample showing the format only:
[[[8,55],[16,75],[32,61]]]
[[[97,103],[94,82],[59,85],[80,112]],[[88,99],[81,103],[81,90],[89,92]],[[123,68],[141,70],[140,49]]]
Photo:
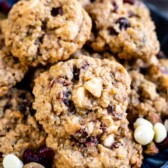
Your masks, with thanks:
[[[148,59],[159,51],[155,26],[145,5],[138,1],[96,0],[87,6],[93,20],[89,46],[110,50],[120,59]]]

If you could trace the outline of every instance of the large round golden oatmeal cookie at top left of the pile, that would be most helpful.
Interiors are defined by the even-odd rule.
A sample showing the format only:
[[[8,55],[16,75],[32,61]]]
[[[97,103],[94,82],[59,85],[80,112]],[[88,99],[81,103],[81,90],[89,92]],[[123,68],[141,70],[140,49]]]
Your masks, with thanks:
[[[22,0],[3,23],[6,46],[31,66],[68,59],[90,31],[91,19],[76,0]]]

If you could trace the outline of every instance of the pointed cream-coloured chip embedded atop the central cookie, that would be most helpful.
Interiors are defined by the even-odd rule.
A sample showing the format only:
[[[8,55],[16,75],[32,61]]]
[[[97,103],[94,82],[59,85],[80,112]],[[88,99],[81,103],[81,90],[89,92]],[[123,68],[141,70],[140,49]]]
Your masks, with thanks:
[[[85,82],[84,87],[88,90],[93,96],[99,98],[102,92],[102,82],[100,78],[92,78],[89,81]]]

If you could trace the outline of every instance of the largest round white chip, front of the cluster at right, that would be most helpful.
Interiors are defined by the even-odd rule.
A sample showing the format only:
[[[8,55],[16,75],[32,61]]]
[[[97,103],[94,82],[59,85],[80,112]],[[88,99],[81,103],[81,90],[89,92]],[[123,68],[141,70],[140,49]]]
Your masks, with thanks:
[[[151,127],[147,127],[146,125],[140,125],[134,131],[134,138],[141,145],[149,144],[152,142],[153,137],[153,129]]]

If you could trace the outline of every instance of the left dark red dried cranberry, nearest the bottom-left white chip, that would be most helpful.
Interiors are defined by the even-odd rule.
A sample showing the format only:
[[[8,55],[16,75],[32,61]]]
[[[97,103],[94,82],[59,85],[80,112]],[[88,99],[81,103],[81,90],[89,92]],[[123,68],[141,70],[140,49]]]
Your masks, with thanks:
[[[37,154],[35,154],[31,149],[26,149],[23,153],[23,162],[30,163],[30,162],[40,162],[40,158]]]

